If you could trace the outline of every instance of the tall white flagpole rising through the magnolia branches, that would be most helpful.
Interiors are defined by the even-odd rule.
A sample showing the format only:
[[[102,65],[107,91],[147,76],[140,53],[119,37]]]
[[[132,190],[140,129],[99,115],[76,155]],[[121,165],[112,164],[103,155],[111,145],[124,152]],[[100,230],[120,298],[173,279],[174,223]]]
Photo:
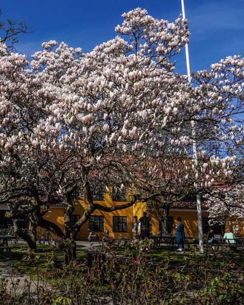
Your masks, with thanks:
[[[181,0],[181,8],[182,8],[182,17],[183,19],[186,19],[186,14],[185,14],[185,5],[184,5],[184,0]],[[188,80],[189,83],[192,83],[191,79],[191,69],[190,69],[190,57],[189,57],[189,48],[188,48],[188,43],[185,45],[186,48],[186,60],[187,60],[187,75],[188,75]],[[195,140],[196,136],[196,130],[195,130],[195,122],[194,120],[191,121],[192,125],[192,136],[193,136],[193,158],[195,161],[195,168],[196,168],[196,173],[198,173],[198,156],[197,156],[197,143]],[[198,182],[196,183],[196,190],[199,189]],[[197,194],[197,220],[198,220],[198,237],[199,237],[199,252],[200,254],[204,253],[203,249],[203,228],[202,228],[202,208],[201,208],[201,195]]]

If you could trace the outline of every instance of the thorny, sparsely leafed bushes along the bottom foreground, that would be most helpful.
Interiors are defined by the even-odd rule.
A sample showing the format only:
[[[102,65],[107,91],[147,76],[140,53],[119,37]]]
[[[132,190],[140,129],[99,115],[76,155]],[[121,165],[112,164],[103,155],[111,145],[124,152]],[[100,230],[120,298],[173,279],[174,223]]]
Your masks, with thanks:
[[[243,268],[225,257],[202,257],[186,253],[176,261],[162,252],[155,262],[145,250],[147,241],[127,242],[126,255],[118,256],[111,243],[101,243],[86,261],[58,267],[49,257],[43,269],[39,257],[29,255],[33,277],[0,282],[0,303],[18,304],[242,304]]]

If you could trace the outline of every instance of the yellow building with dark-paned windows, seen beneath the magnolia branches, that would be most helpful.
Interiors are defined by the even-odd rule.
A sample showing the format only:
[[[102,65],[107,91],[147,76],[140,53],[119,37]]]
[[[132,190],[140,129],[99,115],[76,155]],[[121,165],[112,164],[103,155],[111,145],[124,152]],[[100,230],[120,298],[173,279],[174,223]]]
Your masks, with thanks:
[[[104,191],[104,187],[97,188],[93,194],[94,202],[101,205],[111,207],[114,205],[125,204],[128,199],[126,191],[114,193],[113,188],[109,188],[109,191]],[[84,193],[76,194],[74,199],[75,210],[72,215],[72,223],[74,224],[80,216],[83,214],[84,209],[87,206]],[[192,204],[194,205],[194,204]],[[146,211],[147,215],[151,219],[151,233],[153,235],[160,233],[160,222],[156,212],[147,206],[145,202],[137,202],[133,206],[115,210],[113,212],[105,212],[101,210],[95,210],[90,216],[89,220],[81,227],[80,232],[76,238],[85,240],[88,236],[88,229],[96,232],[110,231],[110,236],[124,236],[124,238],[134,238],[132,228],[136,220],[142,216],[142,212]],[[168,234],[174,234],[174,228],[177,226],[177,217],[181,217],[185,224],[186,236],[198,236],[198,221],[197,210],[193,206],[191,207],[173,207],[169,211],[168,217]],[[203,217],[203,231],[208,232],[208,214],[206,210],[202,210]],[[64,229],[64,207],[62,205],[53,205],[46,215],[49,221],[56,223],[62,230]]]

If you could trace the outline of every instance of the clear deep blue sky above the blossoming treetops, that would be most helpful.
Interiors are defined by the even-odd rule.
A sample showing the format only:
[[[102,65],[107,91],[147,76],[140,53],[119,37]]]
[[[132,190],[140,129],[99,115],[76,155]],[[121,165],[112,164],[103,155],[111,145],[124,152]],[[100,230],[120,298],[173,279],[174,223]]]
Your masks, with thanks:
[[[14,18],[32,25],[34,33],[22,35],[16,46],[28,56],[41,50],[43,41],[66,42],[91,51],[116,36],[114,27],[123,22],[121,14],[145,8],[158,19],[174,21],[181,13],[180,0],[64,1],[8,0],[2,2],[2,20]],[[243,0],[185,0],[189,21],[191,70],[209,69],[228,55],[244,56]],[[175,57],[176,71],[187,74],[185,50]]]

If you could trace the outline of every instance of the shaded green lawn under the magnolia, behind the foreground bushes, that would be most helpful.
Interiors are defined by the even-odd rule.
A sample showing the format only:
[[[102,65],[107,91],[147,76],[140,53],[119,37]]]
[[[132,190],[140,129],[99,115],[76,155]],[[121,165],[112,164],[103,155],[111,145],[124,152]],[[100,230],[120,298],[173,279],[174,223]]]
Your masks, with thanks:
[[[19,247],[20,249],[12,250],[12,259],[9,263],[15,268],[19,268],[27,276],[34,275],[36,262],[38,262],[41,271],[44,271],[50,265],[50,261],[55,268],[64,268],[64,252],[61,250],[53,251],[53,245],[37,245],[37,252],[34,254],[37,258],[35,263],[33,260],[28,260],[27,246],[19,245]],[[101,244],[100,248],[102,250],[104,250],[103,247]],[[125,247],[113,247],[112,251],[114,251],[115,255],[128,255],[128,249]],[[138,252],[133,251],[132,254],[136,257]],[[175,249],[164,247],[151,249],[150,252],[143,253],[143,255],[151,264],[165,263],[167,261],[172,268],[175,266],[181,267],[186,264],[197,267],[202,260],[206,260],[206,258],[199,256],[195,252],[178,253]],[[85,263],[87,260],[87,249],[81,245],[77,245],[77,260],[81,263]],[[232,251],[226,251],[224,255],[208,256],[207,261],[209,268],[220,268],[222,265],[223,267],[226,266],[226,264],[228,264],[229,269],[233,270],[243,267],[243,258]]]

